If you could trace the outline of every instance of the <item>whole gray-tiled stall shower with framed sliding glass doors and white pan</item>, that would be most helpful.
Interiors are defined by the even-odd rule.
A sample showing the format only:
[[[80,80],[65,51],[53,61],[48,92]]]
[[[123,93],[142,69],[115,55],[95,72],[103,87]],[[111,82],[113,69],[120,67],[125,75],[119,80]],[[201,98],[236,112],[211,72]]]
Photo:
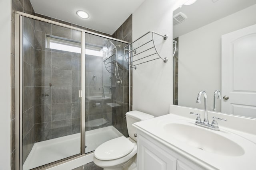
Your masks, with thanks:
[[[129,67],[122,59],[128,43],[23,13],[16,16],[22,169],[86,154],[128,136],[126,124],[118,120],[128,111],[124,100],[130,102]]]

